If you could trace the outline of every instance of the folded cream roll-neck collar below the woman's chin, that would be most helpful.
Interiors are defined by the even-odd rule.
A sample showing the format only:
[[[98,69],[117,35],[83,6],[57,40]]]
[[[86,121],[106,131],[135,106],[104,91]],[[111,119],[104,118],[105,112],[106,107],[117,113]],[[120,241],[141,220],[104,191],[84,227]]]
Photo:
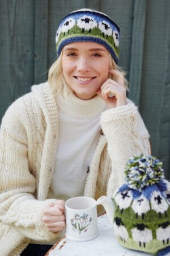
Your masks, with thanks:
[[[63,91],[57,93],[57,105],[65,113],[76,118],[92,118],[106,109],[105,102],[96,96],[91,100],[81,100],[64,86]]]

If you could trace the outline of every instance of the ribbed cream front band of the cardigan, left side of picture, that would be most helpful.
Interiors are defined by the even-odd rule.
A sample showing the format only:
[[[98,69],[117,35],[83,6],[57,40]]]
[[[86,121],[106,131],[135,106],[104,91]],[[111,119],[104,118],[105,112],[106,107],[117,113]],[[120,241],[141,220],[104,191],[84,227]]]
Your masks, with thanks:
[[[45,164],[41,166],[40,184],[37,193],[38,200],[45,200],[48,195],[48,189],[53,176],[54,164],[56,160],[56,149],[58,141],[57,105],[56,100],[50,91],[48,82],[32,86],[32,92],[35,94],[35,97],[43,109],[46,121],[46,133],[44,141],[46,147],[44,147],[42,154],[42,162]]]

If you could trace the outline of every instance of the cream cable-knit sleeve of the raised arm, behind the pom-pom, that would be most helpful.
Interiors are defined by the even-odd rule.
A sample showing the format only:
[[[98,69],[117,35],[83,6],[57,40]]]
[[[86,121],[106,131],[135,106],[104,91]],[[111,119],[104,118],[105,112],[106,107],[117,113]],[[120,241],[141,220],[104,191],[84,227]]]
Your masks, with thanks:
[[[108,142],[108,154],[112,161],[112,172],[108,181],[107,194],[124,183],[124,166],[134,154],[150,154],[149,134],[137,107],[128,104],[109,109],[101,114],[101,127]]]

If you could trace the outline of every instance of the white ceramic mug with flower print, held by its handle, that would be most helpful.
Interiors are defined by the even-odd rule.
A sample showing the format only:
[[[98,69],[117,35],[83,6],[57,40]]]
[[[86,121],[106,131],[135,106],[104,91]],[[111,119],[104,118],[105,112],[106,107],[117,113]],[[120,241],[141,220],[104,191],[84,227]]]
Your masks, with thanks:
[[[79,196],[66,201],[66,234],[74,241],[88,241],[98,236],[96,201]]]

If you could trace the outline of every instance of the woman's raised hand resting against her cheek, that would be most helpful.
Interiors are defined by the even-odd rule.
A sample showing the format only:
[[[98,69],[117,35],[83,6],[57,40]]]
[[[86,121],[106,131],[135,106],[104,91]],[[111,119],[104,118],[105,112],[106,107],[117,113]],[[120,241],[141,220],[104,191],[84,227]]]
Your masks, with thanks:
[[[126,105],[126,89],[124,87],[124,76],[116,69],[109,69],[109,73],[117,77],[117,82],[108,79],[96,93],[106,102],[108,109]],[[112,95],[112,97],[109,97]]]

